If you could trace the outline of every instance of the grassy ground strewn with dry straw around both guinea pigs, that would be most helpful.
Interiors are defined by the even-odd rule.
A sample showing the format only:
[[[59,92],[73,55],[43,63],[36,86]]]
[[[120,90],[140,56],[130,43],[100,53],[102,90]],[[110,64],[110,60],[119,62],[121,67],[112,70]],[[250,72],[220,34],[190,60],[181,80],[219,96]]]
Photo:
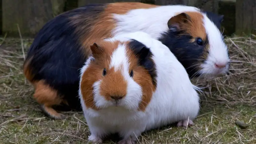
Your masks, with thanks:
[[[195,126],[148,131],[139,137],[140,143],[256,143],[255,38],[225,39],[232,59],[230,75],[193,79],[193,83],[205,87]],[[34,89],[22,73],[32,40],[23,39],[23,46],[19,38],[1,38],[0,42],[4,42],[0,43],[0,143],[87,143],[90,133],[81,112],[63,112],[67,119],[52,120],[33,99]],[[236,121],[249,127],[242,129]]]

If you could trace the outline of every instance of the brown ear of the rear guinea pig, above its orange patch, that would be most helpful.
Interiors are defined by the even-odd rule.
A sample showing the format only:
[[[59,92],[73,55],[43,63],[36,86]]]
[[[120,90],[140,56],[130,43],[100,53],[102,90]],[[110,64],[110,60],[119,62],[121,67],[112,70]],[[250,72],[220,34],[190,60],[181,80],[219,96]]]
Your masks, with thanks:
[[[167,25],[168,28],[173,29],[175,28],[176,30],[180,30],[182,24],[187,23],[188,20],[190,19],[190,16],[182,12],[178,15],[173,16],[170,20],[168,20]]]

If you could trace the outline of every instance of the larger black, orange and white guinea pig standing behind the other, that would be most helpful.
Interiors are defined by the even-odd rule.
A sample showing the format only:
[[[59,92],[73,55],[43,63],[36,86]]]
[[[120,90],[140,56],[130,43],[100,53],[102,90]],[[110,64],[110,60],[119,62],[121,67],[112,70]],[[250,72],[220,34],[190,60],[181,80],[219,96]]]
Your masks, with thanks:
[[[222,16],[191,6],[143,3],[90,4],[64,12],[38,32],[24,63],[44,113],[60,119],[53,105],[82,110],[78,100],[79,69],[102,38],[143,31],[165,44],[188,75],[226,73],[229,56],[220,33]]]

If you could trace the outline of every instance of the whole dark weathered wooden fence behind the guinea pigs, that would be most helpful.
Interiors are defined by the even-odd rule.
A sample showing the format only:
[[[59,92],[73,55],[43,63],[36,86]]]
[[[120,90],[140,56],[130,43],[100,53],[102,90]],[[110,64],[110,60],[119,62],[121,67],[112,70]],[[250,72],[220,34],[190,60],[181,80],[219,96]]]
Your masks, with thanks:
[[[54,16],[92,3],[143,2],[157,5],[184,4],[224,14],[226,34],[256,33],[256,0],[0,0],[1,34],[33,37]],[[227,3],[228,1],[228,3]],[[227,31],[228,30],[228,31]],[[225,34],[225,33],[224,33]]]

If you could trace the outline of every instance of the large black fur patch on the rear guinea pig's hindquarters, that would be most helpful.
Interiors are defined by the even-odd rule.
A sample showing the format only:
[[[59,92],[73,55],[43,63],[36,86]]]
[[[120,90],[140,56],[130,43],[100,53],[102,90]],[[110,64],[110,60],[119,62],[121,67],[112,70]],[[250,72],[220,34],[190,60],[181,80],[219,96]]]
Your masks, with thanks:
[[[28,65],[35,75],[33,80],[45,80],[75,109],[82,110],[78,97],[79,69],[86,60],[79,36],[89,34],[90,20],[104,9],[105,4],[90,4],[58,15],[38,32],[27,53],[26,60],[33,57]],[[74,25],[71,17],[80,19],[76,20],[79,23]],[[77,26],[83,30],[77,32]]]

